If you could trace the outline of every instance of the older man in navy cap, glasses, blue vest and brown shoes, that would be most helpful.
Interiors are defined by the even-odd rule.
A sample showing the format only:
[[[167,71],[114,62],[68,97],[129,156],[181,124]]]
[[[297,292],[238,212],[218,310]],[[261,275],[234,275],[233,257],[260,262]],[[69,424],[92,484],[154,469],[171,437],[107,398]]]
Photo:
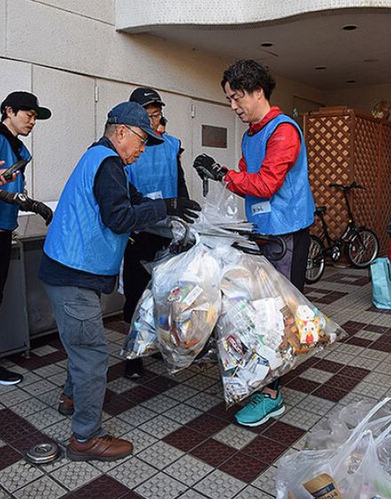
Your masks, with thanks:
[[[104,136],[70,175],[45,240],[39,275],[68,353],[59,411],[73,413],[68,457],[74,461],[114,461],[132,453],[132,442],[101,428],[108,345],[100,294],[114,290],[132,231],[167,215],[196,216],[180,198],[148,199],[126,180],[124,165],[160,141],[139,104],[122,102],[111,109]],[[200,208],[194,202],[191,209]]]

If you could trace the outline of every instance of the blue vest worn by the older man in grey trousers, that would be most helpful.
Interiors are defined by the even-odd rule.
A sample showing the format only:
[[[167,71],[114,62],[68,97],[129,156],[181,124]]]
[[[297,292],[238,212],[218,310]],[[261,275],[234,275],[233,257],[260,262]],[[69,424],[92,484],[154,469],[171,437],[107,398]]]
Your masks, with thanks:
[[[115,234],[101,221],[93,183],[106,157],[117,156],[105,146],[88,149],[62,191],[44,243],[44,253],[71,269],[115,276],[129,234]]]

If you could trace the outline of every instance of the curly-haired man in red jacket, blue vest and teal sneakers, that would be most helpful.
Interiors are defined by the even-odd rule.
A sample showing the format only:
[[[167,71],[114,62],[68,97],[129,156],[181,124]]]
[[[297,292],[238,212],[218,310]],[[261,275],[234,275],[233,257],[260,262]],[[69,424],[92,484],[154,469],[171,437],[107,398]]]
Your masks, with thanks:
[[[270,105],[275,79],[255,60],[236,61],[224,72],[221,86],[236,116],[249,125],[243,135],[239,172],[205,154],[195,158],[195,170],[201,178],[225,181],[228,189],[244,197],[247,219],[259,233],[283,237],[287,252],[272,263],[302,292],[308,227],[315,212],[303,135],[291,117]],[[272,244],[261,250],[266,257],[278,251]],[[279,380],[275,380],[255,393],[235,419],[245,426],[258,426],[283,412]]]

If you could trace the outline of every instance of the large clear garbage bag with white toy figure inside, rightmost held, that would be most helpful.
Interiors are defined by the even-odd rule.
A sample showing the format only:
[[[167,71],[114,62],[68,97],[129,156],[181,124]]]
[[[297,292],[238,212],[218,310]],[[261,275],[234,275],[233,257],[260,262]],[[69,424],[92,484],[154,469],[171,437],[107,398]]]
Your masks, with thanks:
[[[225,399],[231,405],[344,332],[265,257],[230,248],[222,262],[216,332]]]

